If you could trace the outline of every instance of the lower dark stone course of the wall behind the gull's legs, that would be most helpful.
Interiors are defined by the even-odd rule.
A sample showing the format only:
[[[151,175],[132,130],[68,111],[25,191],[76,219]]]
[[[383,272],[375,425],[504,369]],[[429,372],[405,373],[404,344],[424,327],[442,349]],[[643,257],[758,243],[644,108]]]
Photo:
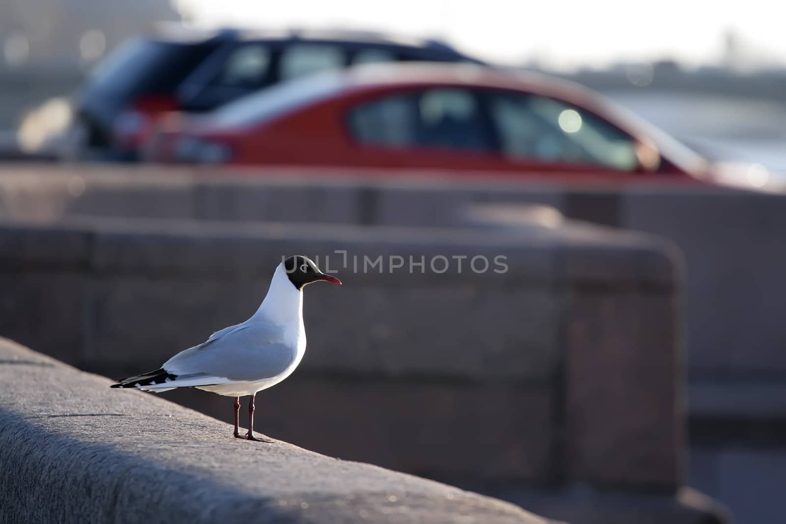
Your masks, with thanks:
[[[199,390],[162,396],[232,422],[232,398]],[[555,397],[550,383],[384,381],[309,376],[298,369],[257,394],[254,422],[271,437],[343,460],[447,482],[516,478],[542,484],[556,475]]]

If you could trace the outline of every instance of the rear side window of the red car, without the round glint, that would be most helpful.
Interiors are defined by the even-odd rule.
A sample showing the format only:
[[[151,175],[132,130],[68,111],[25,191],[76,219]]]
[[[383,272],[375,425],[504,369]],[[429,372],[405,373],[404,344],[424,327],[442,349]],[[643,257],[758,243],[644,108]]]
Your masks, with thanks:
[[[367,102],[351,110],[349,126],[362,144],[491,149],[477,97],[465,89],[422,90]]]

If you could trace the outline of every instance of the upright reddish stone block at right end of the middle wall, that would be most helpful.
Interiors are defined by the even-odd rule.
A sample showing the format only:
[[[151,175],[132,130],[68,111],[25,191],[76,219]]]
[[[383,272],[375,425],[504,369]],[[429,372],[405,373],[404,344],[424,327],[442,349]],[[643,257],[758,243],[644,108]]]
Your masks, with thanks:
[[[568,478],[676,489],[685,428],[674,295],[578,288],[570,304]]]

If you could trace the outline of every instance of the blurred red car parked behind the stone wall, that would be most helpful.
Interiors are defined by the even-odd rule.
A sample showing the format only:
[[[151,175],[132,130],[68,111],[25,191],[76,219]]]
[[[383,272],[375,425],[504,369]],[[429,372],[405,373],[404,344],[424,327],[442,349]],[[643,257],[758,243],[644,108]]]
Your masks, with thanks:
[[[706,161],[571,82],[471,64],[374,64],[171,115],[157,162],[692,178]]]

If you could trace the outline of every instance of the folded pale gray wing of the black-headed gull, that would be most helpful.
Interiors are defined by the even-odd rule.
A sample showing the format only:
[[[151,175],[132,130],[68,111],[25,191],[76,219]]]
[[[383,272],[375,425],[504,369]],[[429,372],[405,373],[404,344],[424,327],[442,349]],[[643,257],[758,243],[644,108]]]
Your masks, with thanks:
[[[182,351],[162,368],[182,379],[199,376],[253,382],[281,375],[295,360],[296,348],[284,343],[284,330],[266,324],[237,324]]]

